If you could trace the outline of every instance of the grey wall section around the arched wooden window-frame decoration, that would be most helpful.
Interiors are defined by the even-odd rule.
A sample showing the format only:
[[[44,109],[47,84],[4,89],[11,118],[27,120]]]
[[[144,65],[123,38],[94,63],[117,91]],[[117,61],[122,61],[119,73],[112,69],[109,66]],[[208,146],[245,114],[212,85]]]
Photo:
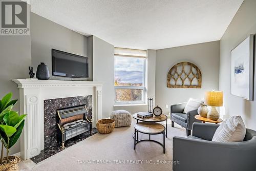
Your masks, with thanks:
[[[194,63],[202,73],[201,89],[167,88],[167,73],[176,63]],[[204,99],[204,91],[219,89],[219,41],[157,50],[156,105],[167,114],[165,105],[186,102],[189,98]]]

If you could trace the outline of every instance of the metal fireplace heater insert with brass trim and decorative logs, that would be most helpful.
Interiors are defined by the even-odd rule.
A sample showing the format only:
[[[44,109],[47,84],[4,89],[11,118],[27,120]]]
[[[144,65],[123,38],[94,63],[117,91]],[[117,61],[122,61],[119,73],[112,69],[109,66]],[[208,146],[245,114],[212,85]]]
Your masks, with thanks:
[[[69,109],[57,110],[57,140],[61,141],[62,148],[65,141],[87,131],[92,131],[92,119],[87,117],[86,106],[76,106]]]

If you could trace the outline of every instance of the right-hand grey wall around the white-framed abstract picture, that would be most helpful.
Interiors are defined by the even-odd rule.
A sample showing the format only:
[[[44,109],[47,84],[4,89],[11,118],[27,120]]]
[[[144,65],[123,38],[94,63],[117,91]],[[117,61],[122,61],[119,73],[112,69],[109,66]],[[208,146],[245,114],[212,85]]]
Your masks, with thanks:
[[[220,90],[224,91],[225,106],[225,111],[222,111],[222,114],[226,114],[225,118],[241,115],[246,127],[254,130],[256,130],[256,91],[254,88],[254,101],[248,101],[241,97],[231,95],[230,51],[247,36],[256,33],[255,9],[255,0],[245,0],[220,40]],[[255,73],[254,75],[256,76]]]

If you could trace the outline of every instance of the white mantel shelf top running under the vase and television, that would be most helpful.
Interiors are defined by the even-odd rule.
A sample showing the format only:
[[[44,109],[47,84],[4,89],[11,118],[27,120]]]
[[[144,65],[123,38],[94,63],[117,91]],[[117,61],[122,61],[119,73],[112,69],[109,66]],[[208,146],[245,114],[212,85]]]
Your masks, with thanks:
[[[36,87],[102,87],[99,81],[69,81],[69,80],[38,80],[38,79],[13,79],[18,88]]]

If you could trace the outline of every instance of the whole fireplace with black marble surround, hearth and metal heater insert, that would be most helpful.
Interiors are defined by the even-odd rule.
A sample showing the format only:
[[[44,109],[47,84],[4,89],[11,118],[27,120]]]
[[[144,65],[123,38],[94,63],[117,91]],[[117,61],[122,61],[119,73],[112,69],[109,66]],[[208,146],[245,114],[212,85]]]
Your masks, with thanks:
[[[93,96],[44,100],[45,148],[30,158],[38,163],[94,134]]]

